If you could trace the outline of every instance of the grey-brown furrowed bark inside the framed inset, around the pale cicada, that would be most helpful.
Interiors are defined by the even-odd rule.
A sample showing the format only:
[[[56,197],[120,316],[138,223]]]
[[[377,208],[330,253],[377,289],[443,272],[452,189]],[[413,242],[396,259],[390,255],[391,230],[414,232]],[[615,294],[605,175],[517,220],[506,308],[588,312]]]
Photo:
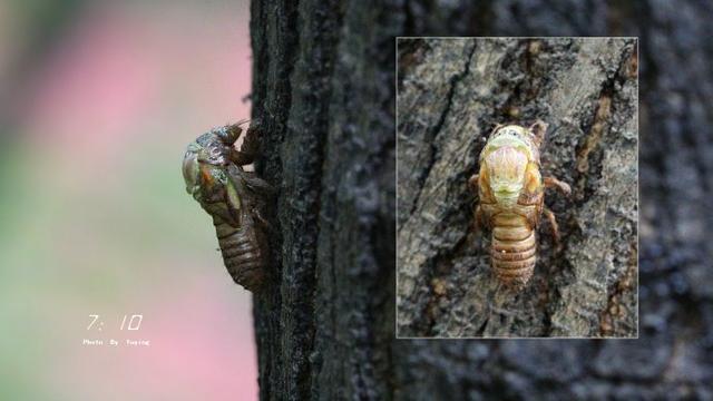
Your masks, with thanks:
[[[636,336],[636,39],[399,39],[399,336]],[[496,124],[549,123],[543,176],[564,251],[539,229],[521,291],[490,268],[468,178]],[[476,197],[477,198],[477,197]]]

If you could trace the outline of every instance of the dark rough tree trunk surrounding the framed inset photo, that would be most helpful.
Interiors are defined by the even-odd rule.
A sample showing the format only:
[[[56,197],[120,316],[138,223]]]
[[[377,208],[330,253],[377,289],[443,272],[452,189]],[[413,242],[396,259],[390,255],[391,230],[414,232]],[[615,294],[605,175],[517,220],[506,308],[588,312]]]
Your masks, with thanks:
[[[261,397],[711,399],[712,18],[694,0],[253,3],[257,169],[283,185]],[[639,340],[393,339],[397,35],[641,37]]]

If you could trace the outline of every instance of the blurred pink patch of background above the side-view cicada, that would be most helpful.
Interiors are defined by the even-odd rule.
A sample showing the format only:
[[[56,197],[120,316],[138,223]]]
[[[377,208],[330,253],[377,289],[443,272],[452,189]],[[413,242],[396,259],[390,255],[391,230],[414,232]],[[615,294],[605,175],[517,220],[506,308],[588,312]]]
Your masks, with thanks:
[[[159,4],[90,6],[28,82],[25,131],[100,163],[146,136],[175,140],[250,116],[247,8]]]

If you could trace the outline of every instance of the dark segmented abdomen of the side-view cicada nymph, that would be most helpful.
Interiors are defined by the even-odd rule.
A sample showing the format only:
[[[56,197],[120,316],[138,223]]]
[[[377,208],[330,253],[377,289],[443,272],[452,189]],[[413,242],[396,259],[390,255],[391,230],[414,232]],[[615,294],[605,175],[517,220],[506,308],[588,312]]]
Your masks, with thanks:
[[[253,229],[234,228],[227,224],[215,227],[223,263],[233,280],[250,291],[260,286],[263,278],[263,254]]]

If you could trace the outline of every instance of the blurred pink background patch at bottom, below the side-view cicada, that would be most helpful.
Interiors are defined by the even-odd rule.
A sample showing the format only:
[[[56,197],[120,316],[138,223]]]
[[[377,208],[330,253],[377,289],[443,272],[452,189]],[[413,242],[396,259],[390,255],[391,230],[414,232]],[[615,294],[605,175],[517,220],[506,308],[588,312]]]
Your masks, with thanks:
[[[144,315],[138,331],[119,330],[123,312],[102,316],[101,333],[81,335],[120,342],[147,339],[150,345],[72,346],[53,380],[77,399],[102,399],[102,394],[117,400],[256,399],[248,295],[233,292],[235,296],[224,299],[215,296],[213,286],[195,281],[179,296],[170,291],[156,294],[166,304],[126,312]]]

